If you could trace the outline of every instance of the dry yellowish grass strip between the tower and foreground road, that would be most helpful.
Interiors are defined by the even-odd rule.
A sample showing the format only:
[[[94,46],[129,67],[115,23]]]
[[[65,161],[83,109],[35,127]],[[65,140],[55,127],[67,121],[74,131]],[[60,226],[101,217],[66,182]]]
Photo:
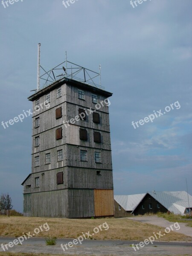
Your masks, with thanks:
[[[99,218],[99,219],[60,219],[60,218],[26,218],[26,217],[0,217],[0,236],[17,237],[23,233],[34,233],[34,229],[47,223],[49,231],[40,232],[35,237],[57,237],[57,238],[77,238],[82,232],[93,233],[93,229],[107,222],[108,230],[104,230],[94,235],[94,239],[120,239],[120,240],[139,240],[143,241],[149,236],[153,236],[153,232],[164,229],[151,224],[145,224],[130,219],[121,218]],[[192,241],[189,236],[175,233],[171,231],[161,241]]]

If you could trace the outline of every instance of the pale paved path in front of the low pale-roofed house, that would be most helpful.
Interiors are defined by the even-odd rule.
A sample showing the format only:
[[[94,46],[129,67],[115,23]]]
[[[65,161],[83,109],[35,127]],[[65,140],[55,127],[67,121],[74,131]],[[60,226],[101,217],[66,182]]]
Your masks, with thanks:
[[[167,221],[164,218],[159,218],[157,216],[142,216],[142,217],[128,217],[131,220],[134,221],[140,221],[160,227],[170,227],[170,225],[174,224],[174,222]],[[181,233],[186,236],[192,236],[192,227],[186,227],[185,223],[179,222],[180,230],[175,230],[173,227],[174,231],[177,233]],[[176,226],[177,227],[177,226]]]

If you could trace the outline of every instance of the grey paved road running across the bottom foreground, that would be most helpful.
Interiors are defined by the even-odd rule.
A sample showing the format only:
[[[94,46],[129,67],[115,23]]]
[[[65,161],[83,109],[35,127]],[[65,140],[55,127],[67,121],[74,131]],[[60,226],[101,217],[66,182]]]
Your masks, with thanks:
[[[7,244],[15,238],[0,238],[0,244]],[[131,244],[137,244],[138,241],[121,240],[85,240],[81,245],[74,245],[67,251],[61,249],[61,243],[67,244],[73,239],[58,239],[57,245],[46,246],[45,240],[41,238],[31,238],[22,245],[14,245],[9,248],[9,252],[23,253],[50,253],[50,254],[69,254],[69,255],[96,255],[96,256],[175,256],[192,255],[192,242],[154,242],[153,245],[145,245],[143,248],[135,251]],[[0,251],[3,249],[0,247]]]

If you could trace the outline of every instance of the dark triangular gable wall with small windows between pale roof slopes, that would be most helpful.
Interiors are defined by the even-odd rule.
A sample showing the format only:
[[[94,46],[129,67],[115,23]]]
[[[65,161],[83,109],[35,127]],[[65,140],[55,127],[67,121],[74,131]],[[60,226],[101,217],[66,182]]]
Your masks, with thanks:
[[[152,209],[149,209],[149,204],[151,203]],[[157,208],[157,203],[159,204],[160,208]],[[142,209],[142,205],[144,205],[145,209]],[[160,204],[157,200],[155,200],[151,195],[146,194],[137,208],[134,210],[134,215],[143,215],[148,212],[157,213],[157,212],[167,212],[166,209],[162,204]]]

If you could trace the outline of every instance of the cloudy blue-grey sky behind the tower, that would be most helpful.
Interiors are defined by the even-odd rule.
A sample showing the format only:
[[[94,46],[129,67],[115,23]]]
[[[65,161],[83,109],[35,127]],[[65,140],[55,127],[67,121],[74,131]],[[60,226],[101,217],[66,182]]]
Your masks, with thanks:
[[[192,1],[139,2],[0,3],[0,124],[32,108],[38,43],[47,69],[67,51],[68,61],[90,70],[101,64],[102,86],[113,93],[114,194],[186,191],[187,179],[192,195]],[[0,125],[0,194],[9,192],[20,212],[31,135],[31,117]]]

